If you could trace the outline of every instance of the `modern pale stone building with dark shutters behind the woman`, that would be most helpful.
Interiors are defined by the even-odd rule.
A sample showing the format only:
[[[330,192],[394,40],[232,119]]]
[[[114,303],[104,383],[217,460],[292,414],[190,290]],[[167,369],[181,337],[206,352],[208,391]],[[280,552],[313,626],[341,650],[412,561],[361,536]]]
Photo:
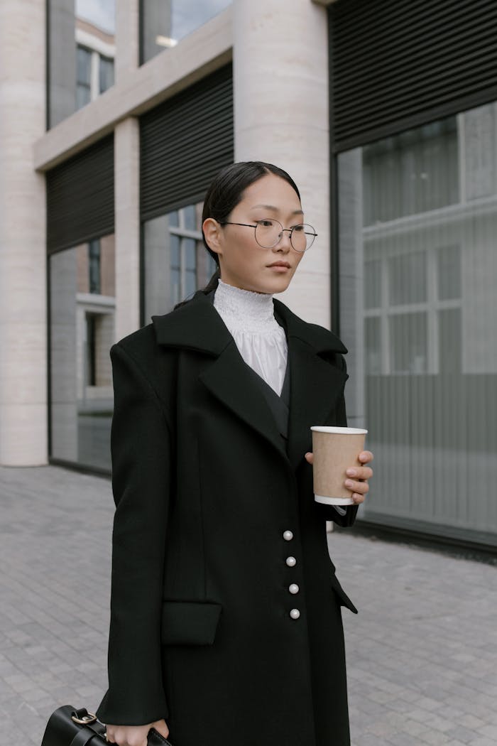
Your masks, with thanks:
[[[497,548],[493,0],[0,5],[0,463],[110,469],[116,339],[203,286],[203,194],[294,176],[364,524]]]

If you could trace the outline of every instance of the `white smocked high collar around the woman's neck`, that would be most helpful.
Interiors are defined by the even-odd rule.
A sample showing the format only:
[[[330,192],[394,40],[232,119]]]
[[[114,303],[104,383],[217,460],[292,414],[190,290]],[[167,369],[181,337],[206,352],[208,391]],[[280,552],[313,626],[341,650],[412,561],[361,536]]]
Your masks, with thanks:
[[[279,332],[273,295],[242,290],[218,280],[214,306],[229,329],[254,333]]]

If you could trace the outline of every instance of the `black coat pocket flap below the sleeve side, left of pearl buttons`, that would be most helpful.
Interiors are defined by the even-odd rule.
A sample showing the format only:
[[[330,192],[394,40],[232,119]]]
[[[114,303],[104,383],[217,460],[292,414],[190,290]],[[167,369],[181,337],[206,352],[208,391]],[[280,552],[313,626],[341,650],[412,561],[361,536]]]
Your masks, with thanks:
[[[212,645],[221,608],[209,601],[164,601],[162,645]]]

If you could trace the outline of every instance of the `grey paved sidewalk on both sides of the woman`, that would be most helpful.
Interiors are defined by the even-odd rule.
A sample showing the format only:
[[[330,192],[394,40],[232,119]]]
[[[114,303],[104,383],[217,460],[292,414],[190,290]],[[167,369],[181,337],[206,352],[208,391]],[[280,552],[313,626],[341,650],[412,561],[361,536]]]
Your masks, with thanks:
[[[0,510],[0,746],[39,746],[52,710],[94,709],[107,686],[110,482],[0,468]],[[346,532],[330,546],[359,608],[352,746],[496,746],[497,567]]]

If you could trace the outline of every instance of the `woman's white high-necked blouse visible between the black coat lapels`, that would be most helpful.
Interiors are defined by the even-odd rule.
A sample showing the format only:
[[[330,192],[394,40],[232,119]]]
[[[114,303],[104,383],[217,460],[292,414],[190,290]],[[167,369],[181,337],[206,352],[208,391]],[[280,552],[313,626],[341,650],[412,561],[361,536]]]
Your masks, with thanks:
[[[273,295],[242,290],[219,280],[214,307],[245,363],[280,395],[288,348],[285,330],[274,318]]]

